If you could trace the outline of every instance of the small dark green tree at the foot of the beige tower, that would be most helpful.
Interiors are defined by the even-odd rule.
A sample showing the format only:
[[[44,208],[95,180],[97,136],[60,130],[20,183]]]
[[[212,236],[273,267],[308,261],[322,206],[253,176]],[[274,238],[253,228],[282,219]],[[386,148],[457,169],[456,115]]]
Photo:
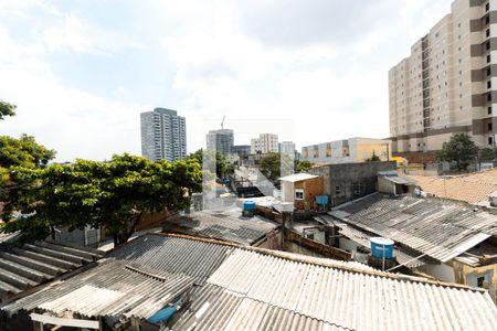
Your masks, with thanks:
[[[467,167],[475,160],[478,148],[475,142],[465,134],[457,134],[451,137],[451,140],[444,142],[438,152],[438,160],[456,162],[457,170],[467,170]]]

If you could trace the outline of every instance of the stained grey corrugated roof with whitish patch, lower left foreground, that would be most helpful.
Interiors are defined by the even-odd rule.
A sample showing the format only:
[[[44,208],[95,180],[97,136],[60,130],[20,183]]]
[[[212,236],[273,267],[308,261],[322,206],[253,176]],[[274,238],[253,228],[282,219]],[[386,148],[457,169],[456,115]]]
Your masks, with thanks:
[[[97,267],[57,281],[2,308],[8,314],[39,309],[87,318],[149,318],[188,290],[193,278],[105,260]]]

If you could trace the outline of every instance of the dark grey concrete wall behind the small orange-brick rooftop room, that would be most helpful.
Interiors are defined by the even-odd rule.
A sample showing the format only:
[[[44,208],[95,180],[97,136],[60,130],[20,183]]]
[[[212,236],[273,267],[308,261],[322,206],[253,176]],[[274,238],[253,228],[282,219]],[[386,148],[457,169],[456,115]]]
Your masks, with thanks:
[[[379,171],[395,170],[395,161],[326,164],[309,170],[322,175],[325,194],[330,196],[331,205],[371,194],[377,191]]]

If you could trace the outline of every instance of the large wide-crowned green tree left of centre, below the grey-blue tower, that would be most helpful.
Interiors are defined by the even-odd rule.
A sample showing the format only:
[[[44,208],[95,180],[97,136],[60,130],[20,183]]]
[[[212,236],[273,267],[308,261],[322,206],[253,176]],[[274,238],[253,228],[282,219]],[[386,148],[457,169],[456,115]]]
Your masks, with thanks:
[[[3,196],[6,229],[44,238],[52,226],[104,226],[125,243],[145,213],[183,210],[201,190],[197,160],[149,161],[129,154],[110,162],[76,160],[43,169],[11,168],[17,186]],[[19,211],[24,215],[14,217]]]

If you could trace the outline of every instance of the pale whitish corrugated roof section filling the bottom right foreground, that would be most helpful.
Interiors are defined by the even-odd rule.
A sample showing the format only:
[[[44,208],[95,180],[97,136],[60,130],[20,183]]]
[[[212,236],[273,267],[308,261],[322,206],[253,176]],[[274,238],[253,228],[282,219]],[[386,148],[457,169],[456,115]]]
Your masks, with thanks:
[[[172,329],[491,330],[496,324],[487,292],[235,249]]]

